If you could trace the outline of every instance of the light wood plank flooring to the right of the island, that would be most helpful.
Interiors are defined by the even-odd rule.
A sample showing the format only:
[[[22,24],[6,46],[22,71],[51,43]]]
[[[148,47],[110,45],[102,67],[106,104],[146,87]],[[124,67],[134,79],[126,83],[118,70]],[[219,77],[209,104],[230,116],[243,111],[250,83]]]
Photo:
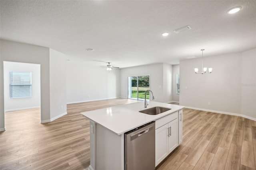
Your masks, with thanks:
[[[183,142],[157,170],[255,170],[256,121],[183,110]],[[170,164],[183,153],[184,162]]]

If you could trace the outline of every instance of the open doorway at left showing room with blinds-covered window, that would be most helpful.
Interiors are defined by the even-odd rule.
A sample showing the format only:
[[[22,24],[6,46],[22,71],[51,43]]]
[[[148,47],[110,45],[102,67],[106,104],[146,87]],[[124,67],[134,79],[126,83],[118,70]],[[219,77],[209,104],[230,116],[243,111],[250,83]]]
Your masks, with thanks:
[[[32,118],[40,124],[40,84],[40,64],[4,61],[4,116],[7,116],[7,128],[8,118],[11,117],[16,121],[24,119],[24,122]]]

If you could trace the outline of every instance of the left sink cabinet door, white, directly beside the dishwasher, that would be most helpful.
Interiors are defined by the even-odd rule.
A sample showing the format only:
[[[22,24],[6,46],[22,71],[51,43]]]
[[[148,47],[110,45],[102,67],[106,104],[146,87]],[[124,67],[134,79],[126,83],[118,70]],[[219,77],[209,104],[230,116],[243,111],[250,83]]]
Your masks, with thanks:
[[[168,155],[168,124],[156,129],[156,166]]]

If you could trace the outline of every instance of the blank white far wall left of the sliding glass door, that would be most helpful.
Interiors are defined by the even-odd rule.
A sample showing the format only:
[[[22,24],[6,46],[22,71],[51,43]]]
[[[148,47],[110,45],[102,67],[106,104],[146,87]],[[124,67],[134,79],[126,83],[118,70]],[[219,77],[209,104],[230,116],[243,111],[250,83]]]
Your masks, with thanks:
[[[120,97],[120,70],[67,61],[67,103]]]

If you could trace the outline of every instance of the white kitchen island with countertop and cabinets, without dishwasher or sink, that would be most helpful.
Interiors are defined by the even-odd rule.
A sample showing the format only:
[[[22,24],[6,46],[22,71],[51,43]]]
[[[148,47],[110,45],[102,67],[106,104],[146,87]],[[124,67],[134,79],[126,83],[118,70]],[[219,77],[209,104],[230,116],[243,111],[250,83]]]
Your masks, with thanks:
[[[139,112],[154,106],[171,110],[157,115]],[[156,166],[182,142],[183,106],[150,101],[147,108],[136,102],[81,113],[90,119],[89,170],[124,170],[124,133],[152,121],[156,121]],[[176,122],[172,129],[177,130],[172,141],[166,135],[171,122]],[[168,148],[168,143],[174,145]]]

